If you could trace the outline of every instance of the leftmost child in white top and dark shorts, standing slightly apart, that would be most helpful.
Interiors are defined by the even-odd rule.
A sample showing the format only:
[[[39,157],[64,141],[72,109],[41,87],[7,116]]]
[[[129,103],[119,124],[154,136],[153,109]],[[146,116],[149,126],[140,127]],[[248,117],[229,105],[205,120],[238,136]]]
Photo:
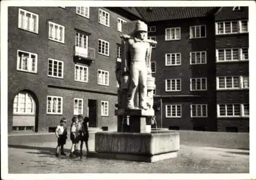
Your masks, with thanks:
[[[56,137],[58,138],[58,145],[56,147],[56,157],[58,157],[59,155],[66,155],[63,149],[63,146],[66,144],[67,134],[68,134],[67,127],[65,126],[66,122],[67,122],[66,118],[62,118],[59,122],[60,125],[58,125],[55,130]],[[59,148],[60,148],[60,153],[59,153]]]

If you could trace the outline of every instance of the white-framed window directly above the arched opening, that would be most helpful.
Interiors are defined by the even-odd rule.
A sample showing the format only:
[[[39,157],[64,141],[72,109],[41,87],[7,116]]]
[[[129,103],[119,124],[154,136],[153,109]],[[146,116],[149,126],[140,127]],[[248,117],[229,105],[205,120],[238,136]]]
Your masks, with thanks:
[[[37,54],[20,50],[17,53],[17,70],[37,73]]]

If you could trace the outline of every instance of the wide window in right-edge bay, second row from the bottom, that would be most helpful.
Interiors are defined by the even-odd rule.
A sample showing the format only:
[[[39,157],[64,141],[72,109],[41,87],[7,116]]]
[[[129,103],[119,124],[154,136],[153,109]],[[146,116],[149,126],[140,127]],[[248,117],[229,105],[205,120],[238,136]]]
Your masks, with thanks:
[[[217,77],[217,89],[249,88],[249,76],[220,76]]]

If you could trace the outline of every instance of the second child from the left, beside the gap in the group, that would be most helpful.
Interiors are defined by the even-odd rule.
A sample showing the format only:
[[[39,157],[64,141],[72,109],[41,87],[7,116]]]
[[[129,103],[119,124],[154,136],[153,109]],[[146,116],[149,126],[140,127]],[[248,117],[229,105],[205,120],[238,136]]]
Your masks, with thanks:
[[[78,123],[78,118],[77,117],[73,117],[72,118],[72,124],[71,124],[71,128],[70,128],[70,139],[72,141],[72,146],[71,146],[71,150],[70,150],[70,158],[75,158],[74,155],[74,150],[75,150],[75,146],[78,143],[78,133],[77,133],[77,123]]]

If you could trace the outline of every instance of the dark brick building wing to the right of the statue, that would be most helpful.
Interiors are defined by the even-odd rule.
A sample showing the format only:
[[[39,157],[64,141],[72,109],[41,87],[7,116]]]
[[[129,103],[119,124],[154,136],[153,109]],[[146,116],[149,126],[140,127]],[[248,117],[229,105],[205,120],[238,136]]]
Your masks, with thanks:
[[[137,10],[158,42],[152,52],[158,126],[248,131],[248,7]]]

